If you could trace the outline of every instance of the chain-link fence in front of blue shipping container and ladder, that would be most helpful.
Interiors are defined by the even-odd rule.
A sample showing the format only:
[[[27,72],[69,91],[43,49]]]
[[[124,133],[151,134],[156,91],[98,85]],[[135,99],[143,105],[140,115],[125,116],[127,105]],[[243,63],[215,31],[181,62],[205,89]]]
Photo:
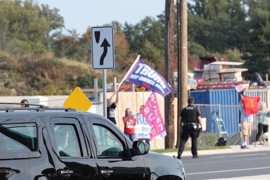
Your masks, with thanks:
[[[218,138],[224,137],[227,145],[241,144],[240,111],[238,105],[195,104],[200,110],[204,131],[200,133],[199,146],[215,146]],[[255,141],[257,120],[254,115],[252,136],[248,143]]]

